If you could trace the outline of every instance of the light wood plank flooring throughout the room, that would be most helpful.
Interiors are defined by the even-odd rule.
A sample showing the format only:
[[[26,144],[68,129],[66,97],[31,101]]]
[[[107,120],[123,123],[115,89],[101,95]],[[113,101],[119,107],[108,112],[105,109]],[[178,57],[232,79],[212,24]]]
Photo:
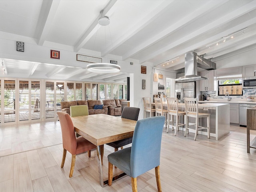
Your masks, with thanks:
[[[184,131],[163,129],[160,179],[163,192],[255,192],[256,149],[246,152],[246,128],[230,125],[230,134],[216,141]],[[251,131],[251,138],[256,136]],[[105,146],[103,171],[108,174]],[[62,137],[58,121],[0,127],[0,192],[131,192],[131,179],[125,176],[112,186],[99,184],[96,151],[76,156],[69,178],[71,155],[64,168]],[[114,174],[119,170],[114,170]],[[156,192],[154,169],[138,177],[138,191]]]

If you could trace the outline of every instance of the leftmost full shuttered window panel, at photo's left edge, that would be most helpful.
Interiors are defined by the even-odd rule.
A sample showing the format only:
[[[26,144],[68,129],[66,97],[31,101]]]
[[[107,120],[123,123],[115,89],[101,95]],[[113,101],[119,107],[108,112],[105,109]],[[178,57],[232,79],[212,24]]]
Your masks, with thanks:
[[[15,121],[15,80],[4,80],[4,122]]]

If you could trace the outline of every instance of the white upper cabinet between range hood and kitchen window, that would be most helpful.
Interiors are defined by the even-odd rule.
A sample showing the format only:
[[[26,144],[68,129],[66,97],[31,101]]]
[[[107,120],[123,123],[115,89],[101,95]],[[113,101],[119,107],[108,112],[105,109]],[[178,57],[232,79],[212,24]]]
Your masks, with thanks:
[[[214,91],[214,70],[202,71],[200,76],[207,77],[208,80],[199,81],[200,91]]]

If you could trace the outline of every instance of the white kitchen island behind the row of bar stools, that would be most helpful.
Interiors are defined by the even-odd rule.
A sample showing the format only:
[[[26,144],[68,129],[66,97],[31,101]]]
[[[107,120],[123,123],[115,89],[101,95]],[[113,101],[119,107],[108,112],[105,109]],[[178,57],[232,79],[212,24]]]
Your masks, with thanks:
[[[185,110],[185,105],[179,104],[180,110]],[[198,104],[199,112],[210,113],[210,137],[219,140],[230,132],[230,105],[224,103],[202,103]],[[186,122],[185,122],[186,123]],[[206,126],[206,118],[200,118],[199,125]],[[180,128],[185,130],[184,128]],[[190,130],[190,132],[195,132]],[[206,131],[198,131],[207,135]]]

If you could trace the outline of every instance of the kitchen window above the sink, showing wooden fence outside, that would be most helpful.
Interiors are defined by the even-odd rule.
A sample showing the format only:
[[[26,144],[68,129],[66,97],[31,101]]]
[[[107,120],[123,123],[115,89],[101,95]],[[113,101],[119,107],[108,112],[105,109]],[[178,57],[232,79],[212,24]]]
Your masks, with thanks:
[[[239,76],[226,76],[218,77],[218,95],[225,96],[228,92],[229,95],[243,95],[242,91],[242,77]]]

